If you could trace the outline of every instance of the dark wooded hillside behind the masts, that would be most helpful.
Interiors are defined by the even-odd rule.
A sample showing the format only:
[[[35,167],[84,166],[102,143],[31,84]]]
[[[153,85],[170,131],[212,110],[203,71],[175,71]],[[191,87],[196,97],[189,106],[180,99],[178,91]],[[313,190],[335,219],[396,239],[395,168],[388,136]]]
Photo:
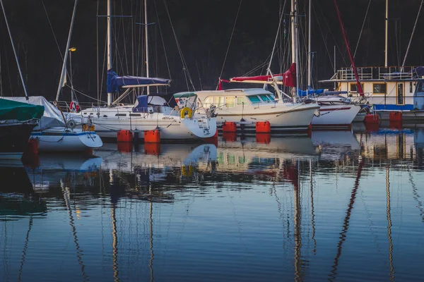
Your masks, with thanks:
[[[172,79],[171,87],[164,87],[159,90],[161,92],[192,90],[193,86],[196,90],[214,90],[221,71],[223,79],[247,73],[264,74],[276,38],[280,13],[283,13],[285,24],[281,26],[272,71],[278,73],[290,66],[290,0],[243,0],[241,6],[240,0],[147,1],[148,22],[155,23],[148,27],[150,76]],[[28,92],[54,99],[74,1],[3,2]],[[298,3],[298,67],[303,86],[306,80],[308,4],[307,0],[298,0]],[[333,0],[313,0],[312,3],[312,77],[314,87],[319,87],[322,85],[317,84],[318,80],[328,79],[334,74],[334,46],[336,67],[350,66],[350,63]],[[370,9],[364,23],[368,4]],[[358,44],[355,64],[384,66],[385,0],[371,0],[371,3],[370,0],[338,0],[338,5],[352,51]],[[389,66],[399,66],[404,60],[420,0],[389,0],[389,5]],[[143,51],[145,34],[143,25],[139,24],[144,22],[143,1],[114,0],[112,6],[115,16],[131,16],[112,18],[114,71],[119,75],[146,75]],[[73,86],[84,94],[96,97],[99,74],[99,91],[103,100],[106,83],[106,7],[106,0],[79,0],[71,37],[71,47],[76,48],[71,56]],[[423,24],[424,17],[421,16],[406,66],[424,64],[424,31],[420,28]],[[23,87],[2,14],[0,30],[1,94],[20,96],[23,95]],[[63,91],[63,99],[67,100],[69,88]],[[82,98],[78,96],[78,99]]]

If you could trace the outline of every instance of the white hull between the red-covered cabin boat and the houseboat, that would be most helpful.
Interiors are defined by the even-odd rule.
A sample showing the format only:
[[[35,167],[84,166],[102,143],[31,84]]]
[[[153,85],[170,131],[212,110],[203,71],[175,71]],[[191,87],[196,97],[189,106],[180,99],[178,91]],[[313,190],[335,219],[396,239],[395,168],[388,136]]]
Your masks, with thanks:
[[[355,104],[320,106],[319,116],[312,118],[312,128],[348,128],[359,111]]]

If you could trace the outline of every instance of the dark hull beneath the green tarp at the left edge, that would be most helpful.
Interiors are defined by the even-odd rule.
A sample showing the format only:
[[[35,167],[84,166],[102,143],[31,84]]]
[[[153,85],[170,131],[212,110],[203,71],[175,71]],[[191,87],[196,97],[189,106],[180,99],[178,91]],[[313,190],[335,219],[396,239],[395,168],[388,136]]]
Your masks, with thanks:
[[[1,123],[0,159],[20,159],[36,125],[36,122]]]

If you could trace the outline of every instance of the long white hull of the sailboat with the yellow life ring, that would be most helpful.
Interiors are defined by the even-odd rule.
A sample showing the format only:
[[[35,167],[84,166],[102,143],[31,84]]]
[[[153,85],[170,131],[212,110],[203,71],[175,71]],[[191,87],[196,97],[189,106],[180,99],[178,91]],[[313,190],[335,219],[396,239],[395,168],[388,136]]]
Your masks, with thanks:
[[[160,129],[160,140],[182,141],[201,140],[202,138],[213,137],[216,133],[216,119],[206,118],[206,116],[194,115],[193,118],[180,118],[162,113],[141,113],[140,116],[132,113],[131,108],[118,109],[86,109],[82,114],[94,113],[90,115],[95,132],[100,137],[117,139],[119,130],[131,130],[139,132],[139,139],[143,140],[144,131]],[[126,116],[115,116],[117,113]],[[87,115],[84,115],[86,117]],[[81,123],[81,115],[74,117],[76,123]]]

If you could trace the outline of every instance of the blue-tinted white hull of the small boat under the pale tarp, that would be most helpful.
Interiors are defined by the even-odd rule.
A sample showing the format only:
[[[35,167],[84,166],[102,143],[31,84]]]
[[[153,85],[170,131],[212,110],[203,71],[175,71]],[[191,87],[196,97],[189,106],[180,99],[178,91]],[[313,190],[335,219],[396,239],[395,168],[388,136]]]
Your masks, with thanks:
[[[33,131],[31,137],[38,140],[39,152],[85,152],[103,145],[95,132],[81,129],[49,128]]]

